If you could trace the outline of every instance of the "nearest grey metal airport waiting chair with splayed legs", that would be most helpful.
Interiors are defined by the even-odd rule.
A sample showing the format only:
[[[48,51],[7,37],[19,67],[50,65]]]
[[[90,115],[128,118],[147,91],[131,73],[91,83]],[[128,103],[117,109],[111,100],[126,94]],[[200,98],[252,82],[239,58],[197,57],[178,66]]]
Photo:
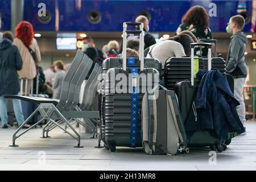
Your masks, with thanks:
[[[13,134],[13,147],[16,147],[15,140],[27,133],[34,126],[38,125],[42,121],[47,121],[48,125],[55,125],[59,127],[61,130],[65,131],[65,133],[69,134],[71,137],[77,140],[77,146],[80,146],[80,135],[77,131],[68,123],[67,118],[99,118],[98,111],[76,111],[74,105],[77,101],[77,93],[79,94],[81,83],[88,75],[90,68],[92,67],[93,61],[89,59],[82,51],[78,50],[71,64],[71,68],[67,72],[64,77],[63,84],[61,86],[61,95],[60,100],[51,100],[46,98],[38,98],[38,97],[27,97],[27,96],[11,96],[6,95],[5,98],[16,98],[28,102],[34,102],[40,104],[38,108],[24,121],[24,123],[15,131]],[[18,132],[22,129],[22,127],[30,121],[30,119],[36,114],[40,113],[42,115],[42,119],[32,125],[29,129],[23,131],[23,133],[19,134]],[[60,126],[59,121],[63,121],[67,123],[67,125],[71,128],[75,135],[69,133],[69,131],[65,130],[64,127]],[[44,134],[44,133],[43,133]],[[42,138],[46,138],[43,137]]]

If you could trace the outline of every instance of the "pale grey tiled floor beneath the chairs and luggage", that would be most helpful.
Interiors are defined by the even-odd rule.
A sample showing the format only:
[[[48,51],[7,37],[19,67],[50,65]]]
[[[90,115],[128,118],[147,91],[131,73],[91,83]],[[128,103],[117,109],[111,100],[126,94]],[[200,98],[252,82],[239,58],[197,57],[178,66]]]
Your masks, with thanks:
[[[84,148],[59,129],[42,139],[42,129],[32,129],[9,147],[15,128],[0,129],[0,170],[255,170],[256,122],[246,123],[247,134],[232,140],[217,153],[216,164],[209,148],[191,148],[186,155],[146,155],[141,148],[117,148],[112,153],[94,148],[97,139],[81,134]],[[44,155],[45,154],[45,155]],[[210,162],[209,162],[210,161]]]

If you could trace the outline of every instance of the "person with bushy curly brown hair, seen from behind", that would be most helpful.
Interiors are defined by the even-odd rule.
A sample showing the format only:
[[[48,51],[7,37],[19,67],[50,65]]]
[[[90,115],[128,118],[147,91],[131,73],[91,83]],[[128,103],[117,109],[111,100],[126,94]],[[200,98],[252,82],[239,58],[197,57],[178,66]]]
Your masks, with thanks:
[[[176,30],[176,35],[181,31],[191,31],[199,41],[200,39],[212,39],[209,28],[209,16],[202,6],[193,6],[182,18],[182,23]]]

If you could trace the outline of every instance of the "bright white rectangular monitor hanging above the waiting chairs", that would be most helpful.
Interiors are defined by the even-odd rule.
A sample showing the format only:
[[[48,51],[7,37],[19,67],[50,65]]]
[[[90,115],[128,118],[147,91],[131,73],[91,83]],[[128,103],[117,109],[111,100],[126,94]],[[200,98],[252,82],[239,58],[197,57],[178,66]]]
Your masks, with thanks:
[[[56,38],[57,50],[76,50],[76,38]]]

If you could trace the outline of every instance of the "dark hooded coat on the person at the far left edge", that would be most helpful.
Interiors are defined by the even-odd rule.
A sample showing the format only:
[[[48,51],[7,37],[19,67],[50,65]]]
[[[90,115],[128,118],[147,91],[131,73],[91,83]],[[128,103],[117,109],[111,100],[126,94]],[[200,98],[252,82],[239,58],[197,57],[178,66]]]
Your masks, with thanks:
[[[22,69],[22,57],[10,40],[0,40],[0,96],[18,94],[18,72]]]

